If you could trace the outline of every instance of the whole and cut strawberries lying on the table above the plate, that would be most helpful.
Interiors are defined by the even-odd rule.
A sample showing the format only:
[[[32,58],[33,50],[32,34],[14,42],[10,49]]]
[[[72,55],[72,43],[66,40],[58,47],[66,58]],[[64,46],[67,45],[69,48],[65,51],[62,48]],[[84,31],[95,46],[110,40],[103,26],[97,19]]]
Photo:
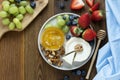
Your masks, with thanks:
[[[92,21],[100,21],[104,17],[103,10],[99,10],[100,2],[96,2],[95,0],[85,0],[87,5],[89,6],[89,12],[91,13]],[[80,10],[85,7],[85,3],[82,0],[72,0],[70,8],[72,10]]]

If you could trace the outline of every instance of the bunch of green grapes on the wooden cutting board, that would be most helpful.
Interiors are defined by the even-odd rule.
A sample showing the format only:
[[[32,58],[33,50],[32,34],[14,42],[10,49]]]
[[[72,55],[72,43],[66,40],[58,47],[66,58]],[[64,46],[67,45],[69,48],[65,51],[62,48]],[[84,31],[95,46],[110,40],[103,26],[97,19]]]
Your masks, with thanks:
[[[8,26],[10,30],[22,29],[21,22],[25,14],[33,14],[35,6],[35,1],[4,0],[2,2],[2,11],[0,11],[2,24]]]

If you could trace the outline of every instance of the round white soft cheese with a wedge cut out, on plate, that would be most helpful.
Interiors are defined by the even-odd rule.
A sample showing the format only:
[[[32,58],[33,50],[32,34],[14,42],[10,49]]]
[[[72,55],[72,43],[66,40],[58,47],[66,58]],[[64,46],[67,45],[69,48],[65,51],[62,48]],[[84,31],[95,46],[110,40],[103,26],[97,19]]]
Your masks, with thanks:
[[[77,52],[74,61],[76,61],[76,62],[85,61],[91,53],[91,46],[87,41],[85,41],[82,38],[72,37],[69,41],[67,41],[66,45],[65,45],[65,54],[67,54],[71,51],[74,51],[74,47],[77,44],[82,45],[83,51]],[[72,59],[71,57],[73,57],[73,55],[70,56],[69,58]],[[66,62],[68,62],[68,61],[66,61]]]

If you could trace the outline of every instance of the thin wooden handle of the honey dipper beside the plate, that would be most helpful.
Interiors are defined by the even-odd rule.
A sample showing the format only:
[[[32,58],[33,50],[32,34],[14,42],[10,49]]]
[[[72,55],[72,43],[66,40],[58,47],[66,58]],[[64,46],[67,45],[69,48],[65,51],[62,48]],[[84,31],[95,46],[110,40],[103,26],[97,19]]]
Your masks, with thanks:
[[[97,46],[96,46],[96,49],[95,49],[94,55],[93,55],[93,57],[92,57],[92,61],[91,61],[91,64],[90,64],[89,70],[88,70],[87,75],[86,75],[86,79],[89,79],[89,76],[90,76],[90,73],[91,73],[91,70],[92,70],[92,67],[93,67],[94,61],[95,61],[96,56],[97,56],[97,51],[98,51],[98,48],[99,48],[99,46],[100,46],[100,43],[101,43],[101,40],[99,39],[98,42],[97,42]]]

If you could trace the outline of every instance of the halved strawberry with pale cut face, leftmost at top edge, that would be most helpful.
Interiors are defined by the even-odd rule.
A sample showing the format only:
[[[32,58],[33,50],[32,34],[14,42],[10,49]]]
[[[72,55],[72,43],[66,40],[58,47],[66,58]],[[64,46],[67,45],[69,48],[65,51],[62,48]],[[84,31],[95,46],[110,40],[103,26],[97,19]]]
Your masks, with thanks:
[[[70,8],[72,10],[78,10],[84,7],[84,2],[82,0],[72,0]]]

